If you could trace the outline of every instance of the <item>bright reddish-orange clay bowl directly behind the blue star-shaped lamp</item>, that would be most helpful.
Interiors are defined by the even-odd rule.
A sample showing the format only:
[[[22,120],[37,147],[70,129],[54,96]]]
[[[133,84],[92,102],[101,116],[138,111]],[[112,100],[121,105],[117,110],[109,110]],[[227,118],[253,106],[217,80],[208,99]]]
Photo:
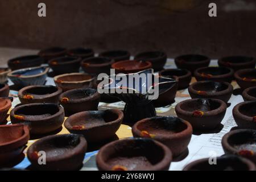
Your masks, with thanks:
[[[149,61],[125,60],[118,61],[112,64],[111,67],[115,69],[115,73],[137,73],[151,68],[152,64]]]

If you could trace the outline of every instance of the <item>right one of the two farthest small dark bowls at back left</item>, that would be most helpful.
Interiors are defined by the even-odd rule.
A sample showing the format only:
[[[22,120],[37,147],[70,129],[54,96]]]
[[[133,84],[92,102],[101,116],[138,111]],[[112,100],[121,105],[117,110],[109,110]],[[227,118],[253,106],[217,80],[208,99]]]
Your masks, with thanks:
[[[68,49],[67,55],[73,57],[80,57],[81,59],[84,59],[86,57],[93,57],[94,51],[93,49],[89,48],[77,47],[73,49]]]

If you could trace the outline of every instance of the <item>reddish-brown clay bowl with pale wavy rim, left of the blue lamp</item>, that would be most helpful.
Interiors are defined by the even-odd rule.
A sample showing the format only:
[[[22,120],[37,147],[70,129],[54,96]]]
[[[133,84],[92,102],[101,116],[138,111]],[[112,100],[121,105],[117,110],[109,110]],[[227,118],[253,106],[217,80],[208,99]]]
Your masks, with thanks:
[[[55,84],[64,92],[72,89],[90,88],[93,79],[92,76],[86,73],[67,73],[53,78]]]

